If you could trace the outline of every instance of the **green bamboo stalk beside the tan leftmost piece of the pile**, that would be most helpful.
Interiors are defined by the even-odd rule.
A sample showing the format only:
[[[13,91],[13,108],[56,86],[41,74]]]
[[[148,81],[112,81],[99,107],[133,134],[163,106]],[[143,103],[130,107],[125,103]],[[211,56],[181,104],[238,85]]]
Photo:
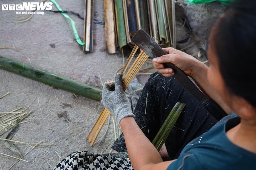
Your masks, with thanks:
[[[127,45],[126,30],[125,30],[124,15],[123,15],[123,2],[121,0],[115,0],[115,13],[116,13],[118,47],[121,50],[123,46]]]

